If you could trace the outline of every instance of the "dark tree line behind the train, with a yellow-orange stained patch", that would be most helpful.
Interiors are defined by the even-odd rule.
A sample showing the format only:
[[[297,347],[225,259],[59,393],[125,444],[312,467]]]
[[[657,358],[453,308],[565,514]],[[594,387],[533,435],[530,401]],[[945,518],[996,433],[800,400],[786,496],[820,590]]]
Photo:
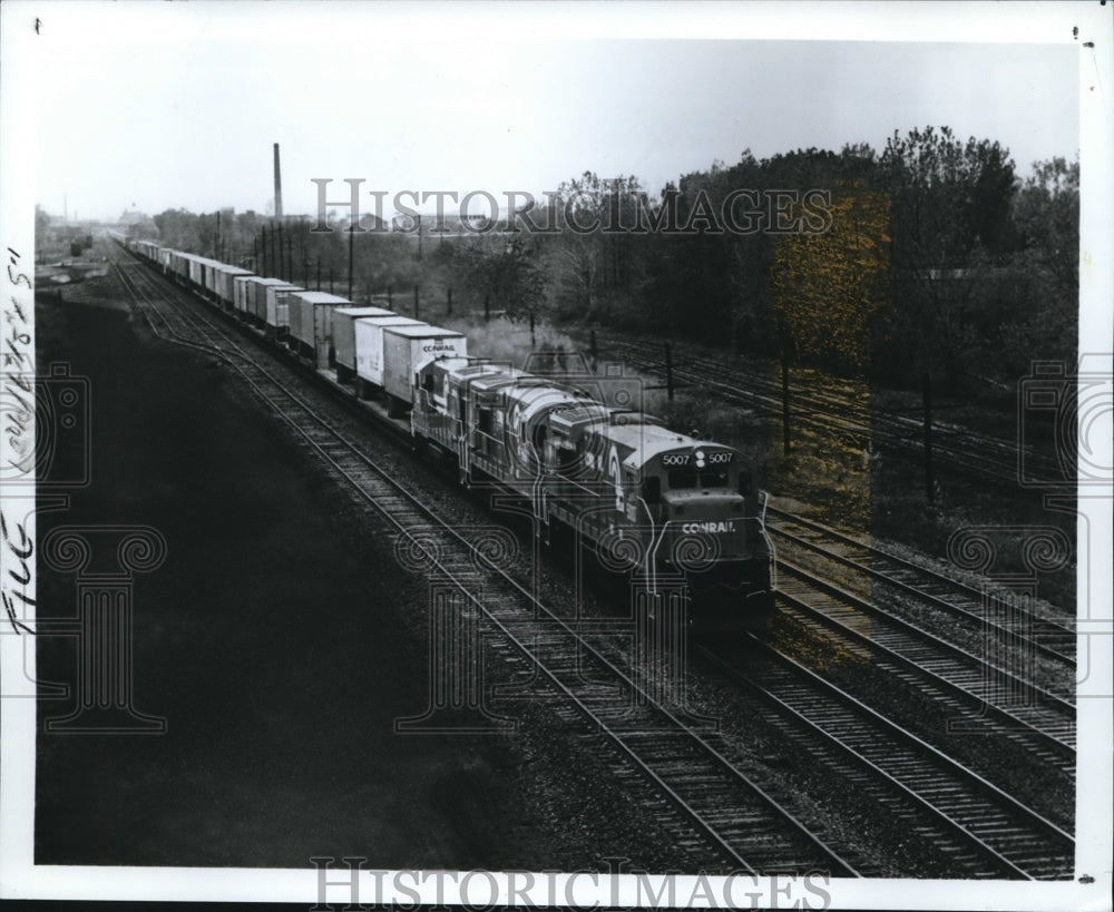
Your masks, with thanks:
[[[320,233],[183,210],[154,222],[169,246],[339,294],[351,272],[358,301],[390,288],[443,307],[451,294],[461,310],[688,336],[899,384],[930,371],[959,391],[1074,360],[1078,189],[1077,160],[1036,163],[1022,180],[999,143],[926,127],[880,151],[747,150],[656,198],[636,177],[586,171],[556,205],[590,229],[512,218],[351,236],[341,223]]]

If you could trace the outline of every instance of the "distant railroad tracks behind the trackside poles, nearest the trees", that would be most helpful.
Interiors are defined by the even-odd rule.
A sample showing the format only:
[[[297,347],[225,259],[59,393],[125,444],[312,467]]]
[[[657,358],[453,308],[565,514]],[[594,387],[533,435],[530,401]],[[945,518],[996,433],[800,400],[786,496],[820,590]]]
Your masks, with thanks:
[[[619,339],[600,339],[608,351],[629,359],[645,372],[662,372],[662,350],[654,343]],[[766,416],[782,413],[780,380],[771,372],[740,366],[709,357],[682,356],[673,366],[674,379],[682,383],[713,390],[727,402],[754,409]],[[724,377],[732,377],[727,382]],[[838,433],[843,442],[859,450],[873,448],[902,458],[922,459],[924,425],[919,418],[885,412],[869,404],[830,393],[818,393],[791,384],[790,408],[793,420],[825,434]],[[1018,442],[971,431],[957,424],[934,422],[932,454],[935,459],[979,477],[1015,486],[1018,482]],[[1057,478],[1061,469],[1055,461],[1032,447],[1024,448],[1026,467],[1040,478]]]

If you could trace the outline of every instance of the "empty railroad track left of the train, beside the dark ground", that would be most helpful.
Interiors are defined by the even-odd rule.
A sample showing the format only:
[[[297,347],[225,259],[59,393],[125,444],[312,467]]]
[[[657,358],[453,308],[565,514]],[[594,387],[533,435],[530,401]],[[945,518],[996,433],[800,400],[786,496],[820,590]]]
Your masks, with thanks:
[[[550,611],[492,559],[498,545],[470,540],[446,524],[369,459],[312,403],[291,392],[276,363],[263,363],[197,311],[175,303],[139,263],[117,273],[156,335],[207,352],[240,373],[252,391],[292,432],[374,510],[393,533],[405,566],[422,566],[459,594],[455,624],[475,619],[497,631],[506,648],[530,667],[541,694],[575,713],[609,749],[673,808],[678,844],[694,839],[731,870],[828,871],[856,876],[851,861],[802,823],[778,798],[749,778],[715,732],[694,726],[675,707],[655,700],[648,683]],[[469,681],[465,681],[467,687]],[[531,689],[529,698],[539,694]],[[814,827],[813,827],[814,828]]]

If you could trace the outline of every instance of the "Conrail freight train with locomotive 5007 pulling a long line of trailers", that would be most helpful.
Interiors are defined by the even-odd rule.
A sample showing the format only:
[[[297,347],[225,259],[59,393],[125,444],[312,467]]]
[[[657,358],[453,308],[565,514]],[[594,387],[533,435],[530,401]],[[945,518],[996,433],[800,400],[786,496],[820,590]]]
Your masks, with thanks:
[[[655,598],[682,592],[695,629],[761,624],[772,608],[765,494],[739,451],[662,426],[632,381],[583,359],[524,369],[467,337],[248,269],[116,236],[128,251],[404,428],[460,482],[528,504],[537,533],[593,548]],[[563,362],[563,363],[557,363]],[[653,614],[653,611],[651,611]]]

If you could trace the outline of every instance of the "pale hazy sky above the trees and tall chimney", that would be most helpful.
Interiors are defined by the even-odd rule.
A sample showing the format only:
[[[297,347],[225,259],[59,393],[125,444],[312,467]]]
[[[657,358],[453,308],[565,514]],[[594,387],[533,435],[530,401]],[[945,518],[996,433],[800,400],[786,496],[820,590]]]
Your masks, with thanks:
[[[880,150],[927,125],[997,139],[1022,176],[1075,157],[1069,17],[1023,4],[1051,24],[989,43],[958,8],[903,4],[917,9],[895,23],[885,4],[833,18],[840,6],[22,0],[7,24],[31,43],[39,20],[36,198],[70,217],[266,212],[274,143],[287,214],[315,212],[312,178],[334,182],[330,199],[346,198],[343,178],[388,199],[539,196],[585,170],[653,193],[744,149]],[[868,40],[879,29],[906,40]],[[828,33],[847,39],[795,38]],[[947,40],[918,40],[934,38]]]

